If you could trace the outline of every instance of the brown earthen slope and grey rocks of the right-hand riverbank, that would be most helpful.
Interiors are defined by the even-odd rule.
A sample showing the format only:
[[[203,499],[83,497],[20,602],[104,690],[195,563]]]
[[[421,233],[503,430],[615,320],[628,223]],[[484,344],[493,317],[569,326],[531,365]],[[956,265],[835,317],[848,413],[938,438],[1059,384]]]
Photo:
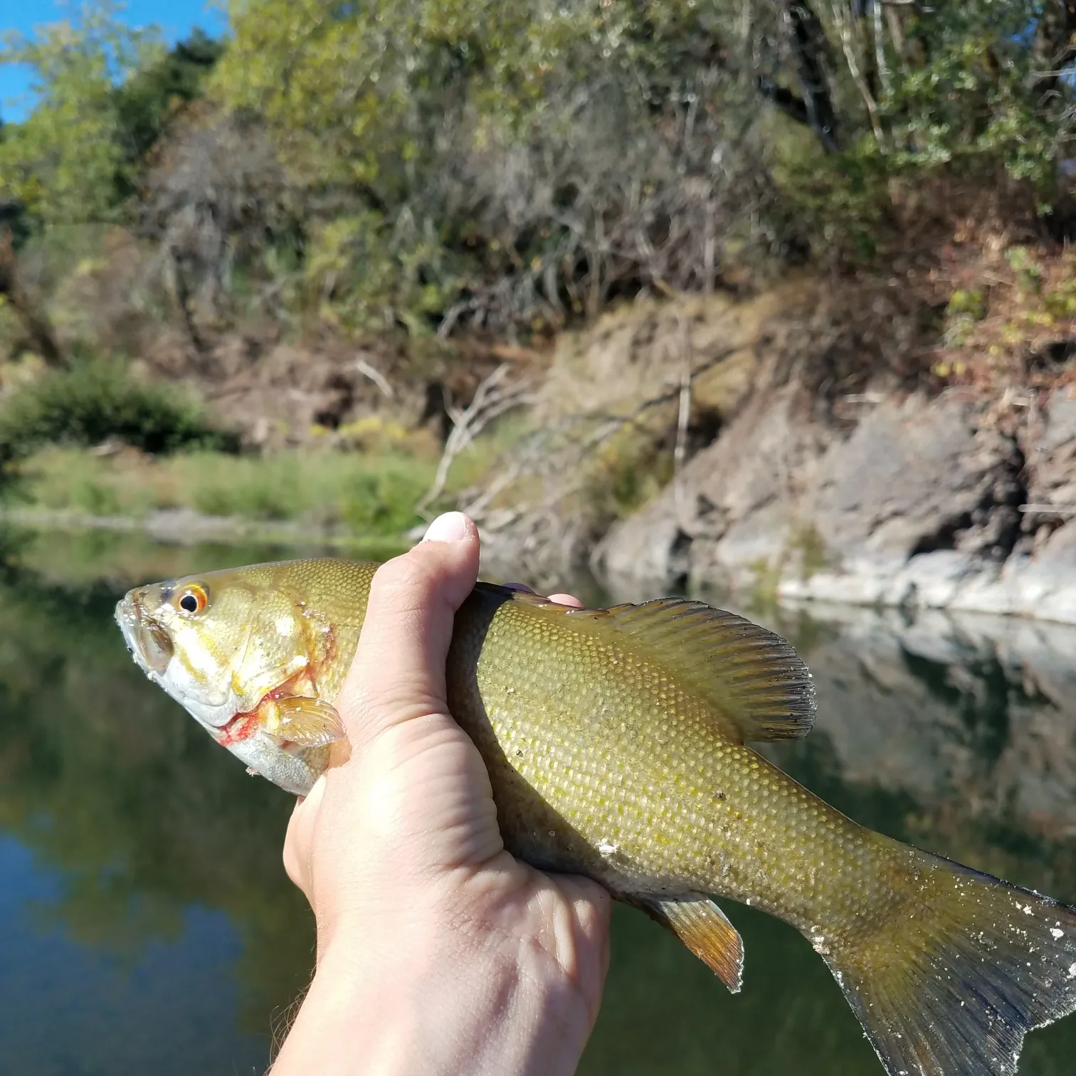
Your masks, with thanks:
[[[585,563],[618,591],[1076,623],[1074,335],[1050,272],[993,325],[924,328],[870,282],[806,279],[607,315],[558,343],[508,495],[472,500],[491,556],[551,584]],[[664,481],[603,504],[625,458]]]

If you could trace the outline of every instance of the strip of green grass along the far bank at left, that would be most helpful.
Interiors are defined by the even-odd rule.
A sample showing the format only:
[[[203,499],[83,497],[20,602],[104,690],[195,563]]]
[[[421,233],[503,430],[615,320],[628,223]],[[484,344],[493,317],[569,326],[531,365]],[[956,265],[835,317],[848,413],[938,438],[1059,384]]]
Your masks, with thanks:
[[[48,448],[18,466],[9,505],[133,519],[161,509],[298,522],[356,535],[398,535],[420,522],[431,462],[401,453],[288,451],[153,457]]]

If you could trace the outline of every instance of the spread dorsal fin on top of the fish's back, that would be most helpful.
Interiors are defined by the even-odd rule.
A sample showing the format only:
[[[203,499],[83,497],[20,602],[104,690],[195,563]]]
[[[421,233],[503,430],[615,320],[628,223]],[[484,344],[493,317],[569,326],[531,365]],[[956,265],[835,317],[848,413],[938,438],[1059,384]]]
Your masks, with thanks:
[[[815,724],[810,670],[791,643],[742,617],[686,598],[566,614],[604,622],[639,643],[710,700],[732,739],[795,739]]]

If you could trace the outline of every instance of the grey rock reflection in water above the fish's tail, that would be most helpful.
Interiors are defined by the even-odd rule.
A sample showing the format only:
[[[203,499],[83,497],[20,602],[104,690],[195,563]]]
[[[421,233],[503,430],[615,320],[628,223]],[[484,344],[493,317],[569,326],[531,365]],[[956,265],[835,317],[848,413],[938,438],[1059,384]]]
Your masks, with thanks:
[[[807,632],[820,705],[782,765],[837,806],[903,799],[872,823],[1076,898],[1076,627],[846,607],[784,626]]]

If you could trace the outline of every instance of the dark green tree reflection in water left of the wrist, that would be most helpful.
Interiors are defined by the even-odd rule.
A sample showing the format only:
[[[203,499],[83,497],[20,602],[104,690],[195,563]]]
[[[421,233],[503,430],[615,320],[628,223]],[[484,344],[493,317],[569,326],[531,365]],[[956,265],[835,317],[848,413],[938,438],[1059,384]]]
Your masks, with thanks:
[[[310,915],[280,860],[291,798],[242,767],[130,661],[116,595],[0,574],[0,830],[62,872],[34,909],[128,961],[190,905],[243,940],[244,1030],[309,976]]]

